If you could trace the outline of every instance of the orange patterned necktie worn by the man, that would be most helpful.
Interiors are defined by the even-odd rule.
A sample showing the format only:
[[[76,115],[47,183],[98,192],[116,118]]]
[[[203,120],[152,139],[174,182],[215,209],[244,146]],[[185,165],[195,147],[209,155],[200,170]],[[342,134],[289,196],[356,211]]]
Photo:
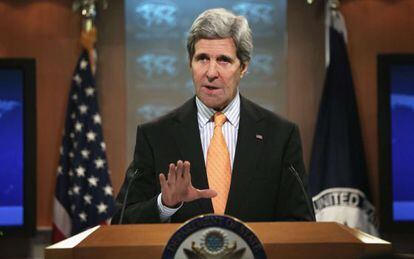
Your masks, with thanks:
[[[226,120],[223,113],[214,114],[214,133],[207,151],[208,184],[218,194],[212,198],[216,214],[224,214],[231,181],[230,154],[222,131]]]

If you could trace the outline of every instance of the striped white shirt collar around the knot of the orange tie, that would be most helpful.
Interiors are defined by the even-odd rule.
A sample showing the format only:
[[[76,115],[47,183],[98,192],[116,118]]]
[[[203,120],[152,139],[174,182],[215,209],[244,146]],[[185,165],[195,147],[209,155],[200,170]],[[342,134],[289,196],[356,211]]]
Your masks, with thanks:
[[[212,108],[207,107],[197,96],[196,96],[196,105],[197,105],[197,117],[198,123],[200,126],[205,126],[211,118],[213,117],[216,111]],[[233,100],[223,109],[222,113],[226,115],[227,121],[229,121],[233,126],[237,127],[240,121],[240,94],[237,91],[236,96]]]

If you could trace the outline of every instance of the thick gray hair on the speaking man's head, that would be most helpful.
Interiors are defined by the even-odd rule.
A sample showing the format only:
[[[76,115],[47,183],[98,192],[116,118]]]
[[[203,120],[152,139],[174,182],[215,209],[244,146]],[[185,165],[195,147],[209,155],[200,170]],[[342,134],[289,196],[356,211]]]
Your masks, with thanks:
[[[209,9],[201,13],[191,25],[187,38],[187,52],[191,60],[195,44],[200,39],[232,38],[241,64],[250,61],[253,51],[252,32],[245,17],[224,9]]]

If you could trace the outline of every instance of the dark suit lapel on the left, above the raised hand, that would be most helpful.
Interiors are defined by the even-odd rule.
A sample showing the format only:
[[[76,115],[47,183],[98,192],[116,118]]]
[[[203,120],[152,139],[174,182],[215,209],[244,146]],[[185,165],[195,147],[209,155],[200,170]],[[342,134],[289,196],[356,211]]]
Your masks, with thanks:
[[[191,162],[191,181],[197,189],[207,189],[208,180],[198,128],[197,107],[195,99],[187,101],[177,110],[174,124],[174,138],[179,147],[181,157]],[[201,213],[212,213],[211,199],[199,199]]]

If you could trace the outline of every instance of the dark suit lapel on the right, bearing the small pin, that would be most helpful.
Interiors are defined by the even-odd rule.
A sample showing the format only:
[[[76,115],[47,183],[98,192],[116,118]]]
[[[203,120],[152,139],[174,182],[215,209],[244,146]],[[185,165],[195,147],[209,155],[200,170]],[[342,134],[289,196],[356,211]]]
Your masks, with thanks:
[[[257,160],[263,147],[264,120],[262,114],[241,96],[240,125],[226,214],[238,216],[246,205],[246,187],[257,170]]]

